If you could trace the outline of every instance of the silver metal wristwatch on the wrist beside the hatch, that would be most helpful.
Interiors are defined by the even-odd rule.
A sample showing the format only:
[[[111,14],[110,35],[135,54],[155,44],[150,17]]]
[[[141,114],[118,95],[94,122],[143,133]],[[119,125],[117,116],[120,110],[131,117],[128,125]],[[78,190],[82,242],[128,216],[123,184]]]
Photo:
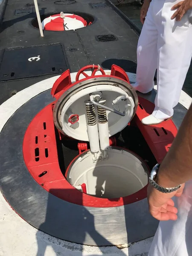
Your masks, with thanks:
[[[171,193],[171,192],[174,192],[176,191],[177,189],[180,188],[181,185],[179,186],[176,186],[174,188],[163,188],[162,186],[159,186],[157,183],[156,183],[156,179],[157,179],[157,172],[159,170],[159,167],[160,167],[160,164],[156,164],[152,171],[151,171],[151,174],[150,174],[150,177],[149,177],[149,183],[157,190],[159,190],[160,192],[163,192],[163,193]]]

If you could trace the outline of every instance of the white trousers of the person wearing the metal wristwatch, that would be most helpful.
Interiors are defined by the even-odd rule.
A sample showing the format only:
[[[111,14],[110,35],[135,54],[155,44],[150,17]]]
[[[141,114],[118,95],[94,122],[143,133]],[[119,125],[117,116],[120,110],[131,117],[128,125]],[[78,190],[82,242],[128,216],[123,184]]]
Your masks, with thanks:
[[[160,221],[148,256],[192,256],[192,180],[174,201],[177,221]]]

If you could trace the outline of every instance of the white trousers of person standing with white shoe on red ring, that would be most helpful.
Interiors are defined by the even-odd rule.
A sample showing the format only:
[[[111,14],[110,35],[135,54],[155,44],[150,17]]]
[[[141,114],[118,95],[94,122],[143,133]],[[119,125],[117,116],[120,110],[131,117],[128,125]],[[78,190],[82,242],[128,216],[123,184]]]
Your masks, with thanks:
[[[159,119],[173,115],[192,57],[192,11],[181,21],[171,20],[172,6],[180,0],[152,0],[137,46],[137,83],[134,88],[157,96],[152,113]]]

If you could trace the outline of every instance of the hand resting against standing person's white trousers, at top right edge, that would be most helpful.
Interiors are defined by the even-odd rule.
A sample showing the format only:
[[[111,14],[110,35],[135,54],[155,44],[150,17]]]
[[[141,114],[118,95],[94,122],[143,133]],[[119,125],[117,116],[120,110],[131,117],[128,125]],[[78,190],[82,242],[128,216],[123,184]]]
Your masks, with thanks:
[[[171,10],[174,11],[177,9],[177,11],[172,15],[171,19],[173,20],[176,18],[177,21],[180,21],[183,15],[191,8],[192,0],[184,0],[175,4]]]

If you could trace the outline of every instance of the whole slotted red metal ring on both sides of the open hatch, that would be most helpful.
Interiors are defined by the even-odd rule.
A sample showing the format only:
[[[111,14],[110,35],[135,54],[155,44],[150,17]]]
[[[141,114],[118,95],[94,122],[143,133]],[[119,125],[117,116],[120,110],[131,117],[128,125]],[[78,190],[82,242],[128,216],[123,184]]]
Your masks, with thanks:
[[[157,162],[160,163],[172,145],[177,128],[172,120],[160,125],[143,125],[140,120],[153,108],[153,103],[139,98],[139,107],[132,122],[140,128]],[[62,175],[59,167],[52,104],[40,111],[29,124],[23,139],[23,158],[30,174],[39,185],[48,192],[54,191],[58,198],[73,204],[87,207],[119,207],[140,201],[147,196],[147,186],[127,197],[114,199],[96,198],[74,188]],[[64,189],[70,189],[70,193],[61,193]]]

